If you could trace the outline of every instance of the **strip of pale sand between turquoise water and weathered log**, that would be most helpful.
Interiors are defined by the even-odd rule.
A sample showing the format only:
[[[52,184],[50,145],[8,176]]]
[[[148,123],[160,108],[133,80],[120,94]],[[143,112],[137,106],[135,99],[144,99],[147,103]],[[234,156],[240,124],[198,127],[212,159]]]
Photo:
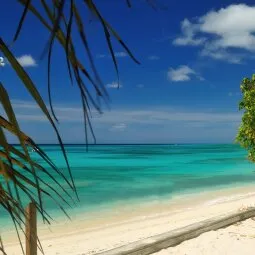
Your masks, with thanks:
[[[58,250],[59,254],[91,254],[254,205],[253,185],[225,188],[153,201],[135,209],[133,205],[121,210],[116,207],[116,211],[98,212],[87,219],[78,216],[72,222],[62,219],[52,227],[39,226],[38,234],[46,254],[57,254]],[[19,254],[13,234],[2,233],[7,254]]]

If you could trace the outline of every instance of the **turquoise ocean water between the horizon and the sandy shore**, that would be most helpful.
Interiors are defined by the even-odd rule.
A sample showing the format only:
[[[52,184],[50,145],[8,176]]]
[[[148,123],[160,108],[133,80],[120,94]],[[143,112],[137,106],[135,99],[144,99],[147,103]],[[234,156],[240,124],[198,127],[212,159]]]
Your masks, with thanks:
[[[67,173],[59,146],[41,148]],[[66,145],[66,150],[80,199],[73,210],[83,214],[121,203],[255,184],[255,164],[238,145],[95,145],[88,152],[84,145]],[[36,153],[31,155],[47,167]],[[47,197],[44,204],[53,216],[61,213]]]

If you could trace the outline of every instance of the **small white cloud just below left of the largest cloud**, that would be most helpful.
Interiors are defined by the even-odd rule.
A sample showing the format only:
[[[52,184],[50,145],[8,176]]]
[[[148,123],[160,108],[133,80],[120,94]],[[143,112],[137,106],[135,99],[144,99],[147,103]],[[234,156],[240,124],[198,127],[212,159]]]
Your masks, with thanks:
[[[195,75],[199,80],[204,80],[203,77],[199,76],[193,69],[186,65],[182,65],[174,68],[169,68],[167,72],[167,78],[169,81],[180,82],[180,81],[189,81],[191,76]]]

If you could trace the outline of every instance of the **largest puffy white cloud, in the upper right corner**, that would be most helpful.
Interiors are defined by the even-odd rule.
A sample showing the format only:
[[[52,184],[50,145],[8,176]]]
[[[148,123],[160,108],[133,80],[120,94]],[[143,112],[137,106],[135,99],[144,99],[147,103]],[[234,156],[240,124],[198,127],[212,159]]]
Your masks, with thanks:
[[[218,11],[210,11],[192,23],[181,24],[183,35],[175,45],[202,46],[201,54],[231,63],[240,63],[244,54],[236,50],[255,51],[255,6],[232,4]],[[235,51],[233,51],[235,50]]]

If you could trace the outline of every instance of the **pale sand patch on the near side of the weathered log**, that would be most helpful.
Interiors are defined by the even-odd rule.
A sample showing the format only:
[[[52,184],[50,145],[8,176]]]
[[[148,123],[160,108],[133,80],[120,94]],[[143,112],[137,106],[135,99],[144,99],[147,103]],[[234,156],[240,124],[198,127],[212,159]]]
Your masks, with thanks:
[[[210,231],[154,255],[254,255],[255,219],[248,219],[224,229]]]

